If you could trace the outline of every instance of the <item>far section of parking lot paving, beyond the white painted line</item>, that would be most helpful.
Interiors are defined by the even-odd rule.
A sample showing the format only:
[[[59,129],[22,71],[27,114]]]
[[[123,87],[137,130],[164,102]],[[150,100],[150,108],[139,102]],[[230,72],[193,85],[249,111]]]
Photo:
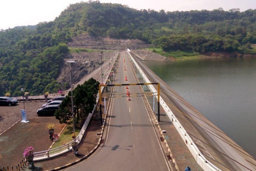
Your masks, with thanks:
[[[41,108],[41,105],[44,103],[46,103],[46,101],[25,102],[27,118],[38,117],[36,111]],[[24,109],[23,102],[19,102],[14,106],[0,106],[0,133],[21,119],[21,109]]]

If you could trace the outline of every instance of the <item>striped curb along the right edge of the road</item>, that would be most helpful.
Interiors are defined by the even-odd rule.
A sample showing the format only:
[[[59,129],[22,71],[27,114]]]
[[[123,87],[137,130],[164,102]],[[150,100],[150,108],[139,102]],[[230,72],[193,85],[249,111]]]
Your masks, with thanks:
[[[130,61],[130,60],[129,60],[129,61]],[[131,62],[130,62],[130,65],[131,65],[131,67],[132,67]],[[132,69],[133,69],[133,67],[132,67]],[[133,70],[134,70],[134,69],[133,69]],[[134,72],[135,72],[135,70],[134,70]],[[135,77],[135,78],[136,78],[136,80],[137,80],[137,77]],[[143,88],[142,88],[142,85],[140,86],[140,89],[141,89],[142,92],[144,92],[144,90],[143,90]],[[163,138],[163,140],[164,140],[163,142],[164,142],[164,144],[165,144],[165,146],[166,146],[166,148],[167,148],[167,151],[168,151],[168,153],[170,154],[171,161],[172,161],[173,164],[175,165],[175,169],[176,169],[177,171],[180,171],[180,169],[178,168],[178,165],[177,165],[177,163],[176,163],[176,161],[175,161],[175,159],[174,159],[174,157],[173,157],[173,155],[172,155],[172,153],[171,153],[171,149],[170,149],[169,145],[167,144],[167,141],[165,140],[165,137],[164,137],[164,135],[163,135],[162,129],[161,129],[160,126],[159,126],[158,120],[157,120],[156,117],[155,117],[155,112],[152,110],[151,105],[150,105],[150,103],[149,103],[149,101],[148,101],[148,99],[147,99],[147,96],[145,96],[145,98],[146,98],[146,101],[147,101],[147,103],[148,103],[148,107],[150,108],[150,112],[151,112],[151,114],[152,114],[152,116],[153,116],[153,119],[155,120],[155,125],[158,127],[159,133],[161,134],[161,136],[162,136],[162,138]],[[155,97],[154,97],[154,98],[155,98]]]

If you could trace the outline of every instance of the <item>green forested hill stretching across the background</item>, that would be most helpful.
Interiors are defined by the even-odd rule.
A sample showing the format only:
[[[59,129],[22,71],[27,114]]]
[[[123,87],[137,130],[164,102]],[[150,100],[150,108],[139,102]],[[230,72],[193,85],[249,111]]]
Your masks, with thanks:
[[[81,2],[70,5],[51,22],[0,31],[0,96],[57,92],[56,82],[66,43],[83,33],[138,38],[165,51],[249,52],[256,43],[256,10],[240,12],[135,10],[121,4]]]

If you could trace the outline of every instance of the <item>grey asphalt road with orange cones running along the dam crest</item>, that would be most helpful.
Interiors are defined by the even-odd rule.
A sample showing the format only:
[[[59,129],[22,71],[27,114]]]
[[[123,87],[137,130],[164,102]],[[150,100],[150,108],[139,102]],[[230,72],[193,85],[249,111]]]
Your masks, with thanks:
[[[125,62],[123,56],[121,53],[116,83],[136,83],[127,56]],[[137,85],[128,88],[130,93],[139,92]],[[126,93],[126,87],[115,87],[114,92]],[[113,98],[104,144],[92,157],[68,170],[170,170],[142,97],[130,100]]]

